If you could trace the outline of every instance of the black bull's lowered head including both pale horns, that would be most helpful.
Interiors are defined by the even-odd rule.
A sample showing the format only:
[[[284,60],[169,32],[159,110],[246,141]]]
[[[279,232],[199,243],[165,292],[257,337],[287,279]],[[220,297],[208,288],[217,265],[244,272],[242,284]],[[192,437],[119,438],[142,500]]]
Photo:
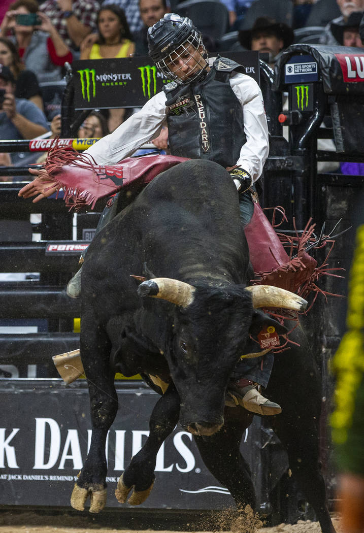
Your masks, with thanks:
[[[225,390],[245,353],[254,308],[303,311],[307,303],[272,286],[194,287],[169,278],[144,281],[138,293],[176,306],[165,357],[181,398],[180,423],[199,435],[223,424]]]

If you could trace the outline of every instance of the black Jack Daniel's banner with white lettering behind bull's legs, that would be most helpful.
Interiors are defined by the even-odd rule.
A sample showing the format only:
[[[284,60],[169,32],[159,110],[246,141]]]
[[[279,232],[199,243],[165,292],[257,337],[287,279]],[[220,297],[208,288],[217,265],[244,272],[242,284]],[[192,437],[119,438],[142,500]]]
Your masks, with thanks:
[[[128,507],[114,496],[117,480],[147,439],[149,417],[158,395],[142,382],[123,382],[117,387],[119,409],[106,445],[107,507]],[[2,505],[69,507],[91,439],[86,382],[64,386],[61,379],[0,379],[0,401]],[[246,442],[242,447],[258,474],[261,451],[256,436],[252,436],[253,427],[243,438]],[[180,426],[160,448],[155,474],[151,495],[141,507],[209,509],[233,505],[228,490],[201,461],[191,433]],[[259,480],[255,481],[259,486]]]

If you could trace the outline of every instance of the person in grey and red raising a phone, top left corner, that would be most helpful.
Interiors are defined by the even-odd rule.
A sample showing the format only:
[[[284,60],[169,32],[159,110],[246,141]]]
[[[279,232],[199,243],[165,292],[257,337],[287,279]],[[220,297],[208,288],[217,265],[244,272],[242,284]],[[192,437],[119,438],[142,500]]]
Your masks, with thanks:
[[[5,14],[0,35],[10,34],[26,68],[35,72],[39,82],[59,81],[64,63],[72,62],[72,53],[50,19],[38,9],[36,0],[15,0]]]

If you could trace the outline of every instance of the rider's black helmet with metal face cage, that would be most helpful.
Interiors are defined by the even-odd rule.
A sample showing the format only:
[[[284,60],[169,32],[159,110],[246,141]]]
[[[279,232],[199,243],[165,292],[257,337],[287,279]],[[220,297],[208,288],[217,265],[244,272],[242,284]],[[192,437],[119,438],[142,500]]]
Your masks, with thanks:
[[[204,78],[207,74],[207,52],[201,34],[187,17],[166,13],[163,19],[148,29],[148,45],[149,55],[158,69],[177,83],[190,83]],[[182,72],[176,67],[181,56],[184,64],[193,58],[195,65],[189,70],[183,69]],[[177,75],[178,71],[180,75]]]

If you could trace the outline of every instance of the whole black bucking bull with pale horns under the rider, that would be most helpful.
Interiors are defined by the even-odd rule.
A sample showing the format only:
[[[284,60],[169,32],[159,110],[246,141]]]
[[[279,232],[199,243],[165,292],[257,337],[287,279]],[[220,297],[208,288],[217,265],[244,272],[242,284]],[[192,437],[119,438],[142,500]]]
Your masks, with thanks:
[[[180,421],[237,505],[254,507],[249,468],[239,451],[253,415],[224,406],[234,366],[252,351],[249,327],[264,316],[254,311],[252,293],[245,289],[249,268],[236,187],[209,161],[187,161],[157,176],[94,238],[83,266],[80,336],[93,431],[72,492],[76,509],[84,509],[88,496],[91,512],[106,503],[105,445],[118,405],[116,369],[126,376],[141,373],[158,392],[151,376],[169,383],[153,409],[147,442],[119,480],[118,500],[125,502],[131,490],[129,503],[147,498],[157,451]],[[161,293],[170,290],[147,282],[138,294],[131,274],[188,285],[172,291],[169,301],[142,297],[160,290],[164,298]],[[272,427],[322,531],[332,533],[318,462],[320,378],[304,335],[295,336],[301,348],[276,356],[265,395],[282,407],[270,417]]]

